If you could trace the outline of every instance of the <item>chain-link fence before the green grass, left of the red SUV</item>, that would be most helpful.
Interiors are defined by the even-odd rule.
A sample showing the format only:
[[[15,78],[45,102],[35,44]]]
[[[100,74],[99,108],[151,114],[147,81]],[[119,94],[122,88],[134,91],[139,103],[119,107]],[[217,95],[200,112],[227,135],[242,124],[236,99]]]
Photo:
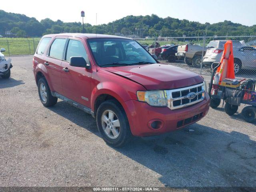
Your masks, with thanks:
[[[6,56],[34,54],[40,38],[0,38],[0,48]]]

